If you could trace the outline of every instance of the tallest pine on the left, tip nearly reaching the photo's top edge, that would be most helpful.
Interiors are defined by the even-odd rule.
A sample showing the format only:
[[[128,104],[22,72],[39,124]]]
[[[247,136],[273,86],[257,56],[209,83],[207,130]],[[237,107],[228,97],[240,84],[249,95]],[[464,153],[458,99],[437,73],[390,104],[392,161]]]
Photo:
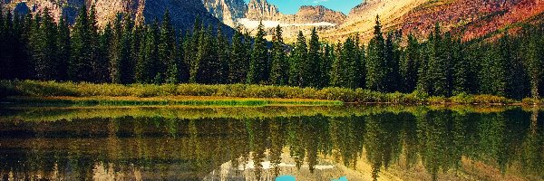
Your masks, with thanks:
[[[72,81],[92,81],[92,41],[91,27],[85,5],[75,19],[72,31],[72,58],[68,75]]]

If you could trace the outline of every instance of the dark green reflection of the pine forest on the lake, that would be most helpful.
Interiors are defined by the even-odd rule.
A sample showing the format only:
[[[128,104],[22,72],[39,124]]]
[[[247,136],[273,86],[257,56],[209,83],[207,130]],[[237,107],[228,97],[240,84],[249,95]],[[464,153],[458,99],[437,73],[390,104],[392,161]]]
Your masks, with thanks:
[[[19,147],[0,149],[6,152],[0,152],[0,173],[6,176],[13,170],[24,178],[24,173],[51,176],[58,170],[61,177],[89,178],[101,163],[112,166],[114,172],[156,173],[151,178],[171,178],[180,171],[188,172],[188,178],[199,178],[228,161],[238,170],[252,160],[255,176],[261,178],[265,160],[271,162],[274,176],[280,174],[278,165],[285,161],[282,153],[289,148],[296,167],[307,164],[311,171],[321,155],[336,156],[346,167],[356,167],[365,157],[377,178],[383,169],[401,163],[403,156],[408,168],[421,160],[431,178],[439,179],[441,173],[459,170],[466,157],[500,168],[503,174],[515,166],[520,167],[516,170],[520,176],[541,179],[541,118],[538,111],[420,110],[334,118],[122,117],[3,123],[30,136],[27,142],[15,144]]]

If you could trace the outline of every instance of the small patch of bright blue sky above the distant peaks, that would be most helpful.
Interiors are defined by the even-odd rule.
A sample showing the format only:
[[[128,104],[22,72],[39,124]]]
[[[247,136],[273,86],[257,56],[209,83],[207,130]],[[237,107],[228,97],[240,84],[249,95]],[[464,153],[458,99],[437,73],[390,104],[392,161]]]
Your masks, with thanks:
[[[245,0],[249,2],[249,0]],[[355,5],[361,4],[363,0],[267,0],[268,3],[276,5],[282,14],[296,14],[301,5],[324,5],[335,11],[348,14]]]

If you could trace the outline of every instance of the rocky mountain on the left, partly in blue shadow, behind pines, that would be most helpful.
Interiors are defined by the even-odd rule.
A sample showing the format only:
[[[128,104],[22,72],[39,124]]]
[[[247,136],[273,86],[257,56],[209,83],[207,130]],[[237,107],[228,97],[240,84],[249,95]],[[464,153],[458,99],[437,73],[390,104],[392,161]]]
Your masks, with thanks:
[[[222,24],[218,18],[208,13],[200,0],[12,0],[5,5],[11,10],[16,6],[26,5],[30,12],[40,12],[45,7],[49,8],[53,17],[58,20],[61,14],[66,14],[73,22],[82,5],[94,5],[97,12],[99,25],[111,23],[118,13],[131,14],[137,22],[152,23],[160,20],[166,10],[170,10],[170,17],[174,27],[180,30],[192,29],[197,16],[204,24],[223,26],[226,32],[232,33],[232,29]]]

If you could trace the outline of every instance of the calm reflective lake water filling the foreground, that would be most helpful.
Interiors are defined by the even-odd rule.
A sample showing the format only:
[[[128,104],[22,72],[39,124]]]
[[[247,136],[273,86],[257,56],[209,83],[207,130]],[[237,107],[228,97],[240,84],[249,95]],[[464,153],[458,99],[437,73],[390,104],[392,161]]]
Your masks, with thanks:
[[[9,180],[544,180],[533,108],[0,110]]]

